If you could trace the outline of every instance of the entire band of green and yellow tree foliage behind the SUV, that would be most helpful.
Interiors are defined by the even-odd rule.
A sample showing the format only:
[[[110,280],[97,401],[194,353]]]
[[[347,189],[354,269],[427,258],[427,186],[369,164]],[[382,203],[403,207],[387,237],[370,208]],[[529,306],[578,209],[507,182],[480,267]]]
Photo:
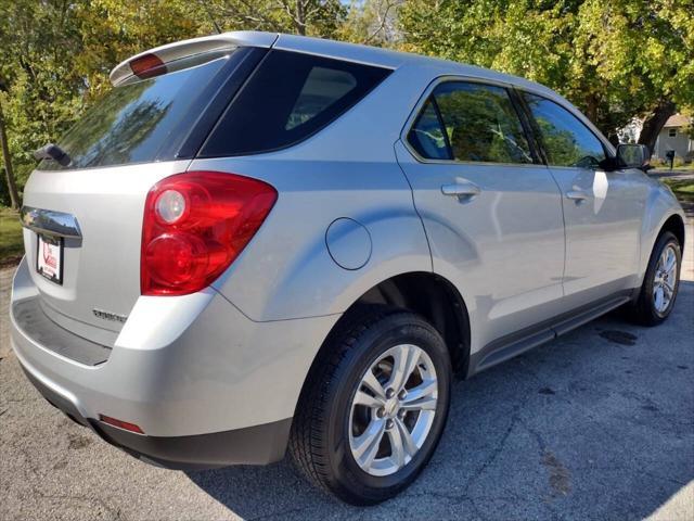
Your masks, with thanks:
[[[0,107],[22,187],[31,152],[110,90],[121,60],[260,29],[517,74],[565,94],[607,135],[646,116],[653,137],[676,109],[694,111],[693,13],[694,0],[0,0]]]

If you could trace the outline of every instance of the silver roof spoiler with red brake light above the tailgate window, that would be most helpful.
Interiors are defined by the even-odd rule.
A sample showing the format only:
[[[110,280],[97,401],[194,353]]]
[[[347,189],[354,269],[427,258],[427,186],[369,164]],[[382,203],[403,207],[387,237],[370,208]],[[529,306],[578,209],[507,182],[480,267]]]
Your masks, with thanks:
[[[128,60],[116,65],[108,76],[114,87],[124,84],[126,80],[136,76],[132,64],[149,61],[157,67],[166,67],[167,65],[196,54],[208,52],[224,52],[237,47],[272,47],[278,39],[275,33],[259,33],[253,30],[239,30],[233,33],[222,33],[221,35],[205,36],[203,38],[193,38],[190,40],[177,41],[166,46],[156,47],[140,54],[136,54]],[[169,68],[169,67],[167,67]],[[138,77],[147,77],[143,74],[137,74]]]

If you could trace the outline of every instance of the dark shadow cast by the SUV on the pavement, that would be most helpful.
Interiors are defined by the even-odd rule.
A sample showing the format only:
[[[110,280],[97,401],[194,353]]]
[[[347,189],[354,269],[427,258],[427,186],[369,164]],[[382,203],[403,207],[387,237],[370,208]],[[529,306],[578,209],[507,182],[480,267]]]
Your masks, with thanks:
[[[369,509],[313,488],[288,458],[188,476],[247,519],[642,519],[694,479],[692,338],[683,281],[660,328],[614,313],[455,383],[428,467]]]

